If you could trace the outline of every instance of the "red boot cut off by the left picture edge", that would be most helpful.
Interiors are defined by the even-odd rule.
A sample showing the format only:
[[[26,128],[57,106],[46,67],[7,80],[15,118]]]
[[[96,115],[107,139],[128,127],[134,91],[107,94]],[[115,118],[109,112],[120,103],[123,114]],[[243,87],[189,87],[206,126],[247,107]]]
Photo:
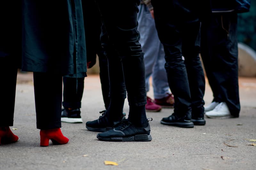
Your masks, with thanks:
[[[0,127],[0,145],[2,144],[10,144],[18,141],[19,137],[14,135],[9,126]]]

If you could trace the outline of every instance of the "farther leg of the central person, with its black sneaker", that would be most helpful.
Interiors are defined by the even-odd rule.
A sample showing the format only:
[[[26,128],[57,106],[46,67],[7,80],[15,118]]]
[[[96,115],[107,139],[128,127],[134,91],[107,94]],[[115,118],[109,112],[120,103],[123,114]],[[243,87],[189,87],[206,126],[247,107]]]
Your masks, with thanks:
[[[86,128],[90,131],[104,132],[112,129],[119,124],[125,117],[123,113],[124,100],[126,98],[126,89],[124,83],[123,67],[120,58],[112,45],[108,42],[108,35],[105,27],[102,26],[100,37],[104,43],[104,55],[107,56],[108,82],[109,82],[109,107],[100,113],[99,119],[86,122]]]

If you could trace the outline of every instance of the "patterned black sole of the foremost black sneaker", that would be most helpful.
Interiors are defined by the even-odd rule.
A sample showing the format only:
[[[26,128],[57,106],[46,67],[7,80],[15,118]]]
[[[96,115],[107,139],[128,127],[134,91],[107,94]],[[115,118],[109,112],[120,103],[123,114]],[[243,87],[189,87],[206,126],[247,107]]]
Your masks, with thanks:
[[[143,135],[135,135],[130,137],[111,137],[111,138],[101,138],[97,135],[99,140],[103,141],[111,141],[111,142],[149,142],[152,140],[151,135],[143,134]]]

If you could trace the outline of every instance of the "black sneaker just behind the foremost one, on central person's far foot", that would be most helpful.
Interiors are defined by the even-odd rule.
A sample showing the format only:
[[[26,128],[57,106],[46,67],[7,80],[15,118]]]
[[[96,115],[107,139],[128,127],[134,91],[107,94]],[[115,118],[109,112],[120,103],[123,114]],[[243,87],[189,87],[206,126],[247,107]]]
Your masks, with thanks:
[[[89,131],[98,131],[98,132],[105,132],[113,129],[117,126],[123,119],[125,119],[125,113],[123,113],[116,121],[109,120],[108,116],[106,115],[107,110],[100,111],[102,115],[93,121],[86,122],[85,127]]]

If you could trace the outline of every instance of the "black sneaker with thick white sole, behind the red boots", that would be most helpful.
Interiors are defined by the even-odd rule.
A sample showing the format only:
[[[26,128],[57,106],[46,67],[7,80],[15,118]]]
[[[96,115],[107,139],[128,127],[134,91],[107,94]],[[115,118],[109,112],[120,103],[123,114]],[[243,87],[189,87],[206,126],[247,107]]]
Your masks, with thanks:
[[[61,109],[61,122],[67,123],[83,123],[83,120],[80,116],[80,109],[68,110],[65,108]]]

